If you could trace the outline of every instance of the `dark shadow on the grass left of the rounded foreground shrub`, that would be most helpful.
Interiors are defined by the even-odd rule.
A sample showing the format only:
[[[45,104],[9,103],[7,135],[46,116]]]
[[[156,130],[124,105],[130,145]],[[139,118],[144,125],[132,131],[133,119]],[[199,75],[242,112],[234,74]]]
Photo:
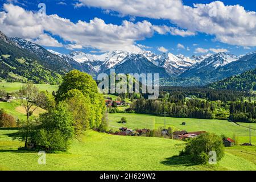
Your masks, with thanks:
[[[161,164],[167,166],[196,166],[196,163],[192,163],[189,156],[186,155],[175,155],[170,158],[166,158],[166,160],[160,162]]]

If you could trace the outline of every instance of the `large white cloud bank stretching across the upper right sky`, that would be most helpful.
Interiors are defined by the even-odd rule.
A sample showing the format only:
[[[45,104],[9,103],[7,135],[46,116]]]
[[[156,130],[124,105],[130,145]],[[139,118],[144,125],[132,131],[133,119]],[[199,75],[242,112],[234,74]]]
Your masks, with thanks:
[[[121,15],[169,19],[178,27],[214,35],[232,45],[256,46],[256,13],[240,5],[225,6],[221,1],[183,5],[181,0],[79,0],[77,6],[100,7]],[[173,31],[175,32],[175,31]],[[182,31],[181,31],[182,32]],[[177,33],[176,33],[177,34]]]

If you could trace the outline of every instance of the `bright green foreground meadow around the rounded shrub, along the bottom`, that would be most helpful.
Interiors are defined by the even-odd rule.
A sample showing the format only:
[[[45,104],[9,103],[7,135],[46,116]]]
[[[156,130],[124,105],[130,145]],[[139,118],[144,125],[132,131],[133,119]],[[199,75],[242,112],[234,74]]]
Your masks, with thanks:
[[[74,140],[68,152],[46,154],[46,165],[38,164],[38,153],[17,151],[23,143],[9,137],[16,130],[0,129],[0,170],[256,170],[255,147],[250,155],[227,150],[218,166],[202,166],[177,156],[185,143],[164,138],[123,137],[86,131]],[[236,156],[235,156],[236,155]]]

